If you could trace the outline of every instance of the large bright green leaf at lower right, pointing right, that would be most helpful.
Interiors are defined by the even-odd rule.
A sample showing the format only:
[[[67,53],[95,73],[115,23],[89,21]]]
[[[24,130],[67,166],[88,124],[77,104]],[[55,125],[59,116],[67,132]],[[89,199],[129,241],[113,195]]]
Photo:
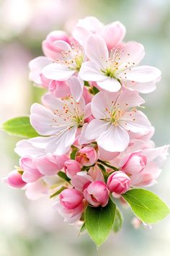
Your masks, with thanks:
[[[122,197],[131,206],[133,213],[145,223],[156,223],[170,213],[165,202],[146,189],[131,189]]]

